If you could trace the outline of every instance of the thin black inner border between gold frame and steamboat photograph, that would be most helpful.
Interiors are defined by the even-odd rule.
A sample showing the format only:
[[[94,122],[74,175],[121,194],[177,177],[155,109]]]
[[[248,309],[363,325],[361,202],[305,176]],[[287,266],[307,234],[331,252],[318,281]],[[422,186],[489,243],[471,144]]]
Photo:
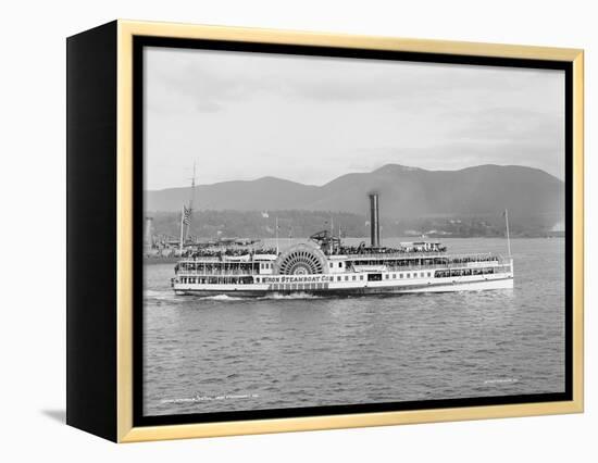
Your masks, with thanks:
[[[309,406],[296,409],[274,409],[259,411],[236,411],[217,413],[194,413],[179,415],[142,414],[142,226],[144,226],[144,47],[186,48],[207,50],[228,50],[262,53],[284,53],[333,58],[376,59],[411,62],[434,62],[447,64],[489,65],[560,70],[565,72],[565,391],[559,393],[537,393],[500,396],[485,398],[463,398],[447,400]],[[571,62],[471,57],[439,53],[403,51],[363,50],[349,48],[274,45],[257,42],[235,42],[223,40],[178,39],[165,37],[135,36],[133,41],[133,188],[134,188],[134,301],[133,301],[133,424],[135,427],[247,421],[263,418],[303,417],[316,415],[345,415],[351,413],[375,413],[389,411],[429,410],[479,405],[503,405],[515,403],[538,403],[573,400],[573,64]]]

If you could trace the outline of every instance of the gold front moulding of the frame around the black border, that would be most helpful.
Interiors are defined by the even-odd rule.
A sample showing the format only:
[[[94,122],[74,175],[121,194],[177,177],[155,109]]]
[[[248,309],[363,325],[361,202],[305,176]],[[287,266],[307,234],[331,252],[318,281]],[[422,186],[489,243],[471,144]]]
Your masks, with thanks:
[[[314,34],[119,20],[117,26],[117,440],[233,436],[583,412],[584,54],[583,50],[444,40]],[[237,40],[573,63],[573,400],[204,424],[133,426],[133,37]]]

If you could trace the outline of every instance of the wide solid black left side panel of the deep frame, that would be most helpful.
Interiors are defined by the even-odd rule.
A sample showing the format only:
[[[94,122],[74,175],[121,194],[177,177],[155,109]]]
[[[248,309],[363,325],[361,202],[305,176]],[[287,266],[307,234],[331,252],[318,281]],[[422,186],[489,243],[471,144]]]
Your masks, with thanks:
[[[66,424],[116,441],[117,22],[66,40]]]

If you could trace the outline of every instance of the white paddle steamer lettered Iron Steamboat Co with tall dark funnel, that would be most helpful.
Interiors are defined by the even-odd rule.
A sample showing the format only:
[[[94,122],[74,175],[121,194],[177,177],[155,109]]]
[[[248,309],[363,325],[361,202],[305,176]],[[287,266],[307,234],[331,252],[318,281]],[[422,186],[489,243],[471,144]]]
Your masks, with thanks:
[[[198,252],[175,265],[177,295],[264,297],[444,292],[513,287],[513,259],[451,254],[437,241],[381,246],[378,195],[370,195],[371,243],[345,246],[328,230],[278,252]]]

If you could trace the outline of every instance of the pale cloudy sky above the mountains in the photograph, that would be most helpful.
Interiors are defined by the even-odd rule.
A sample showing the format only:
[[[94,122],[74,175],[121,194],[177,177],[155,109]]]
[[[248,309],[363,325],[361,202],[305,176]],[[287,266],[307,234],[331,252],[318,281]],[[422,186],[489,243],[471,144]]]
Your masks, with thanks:
[[[145,49],[146,189],[275,176],[323,185],[394,163],[564,179],[564,73]]]

